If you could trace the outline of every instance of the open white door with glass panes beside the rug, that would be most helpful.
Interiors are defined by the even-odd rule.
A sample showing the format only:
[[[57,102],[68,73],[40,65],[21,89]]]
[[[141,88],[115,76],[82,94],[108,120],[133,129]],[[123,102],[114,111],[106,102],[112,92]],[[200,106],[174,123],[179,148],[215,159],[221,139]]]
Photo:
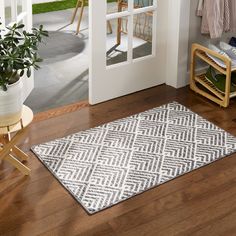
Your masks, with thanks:
[[[167,0],[90,0],[89,102],[165,83]]]

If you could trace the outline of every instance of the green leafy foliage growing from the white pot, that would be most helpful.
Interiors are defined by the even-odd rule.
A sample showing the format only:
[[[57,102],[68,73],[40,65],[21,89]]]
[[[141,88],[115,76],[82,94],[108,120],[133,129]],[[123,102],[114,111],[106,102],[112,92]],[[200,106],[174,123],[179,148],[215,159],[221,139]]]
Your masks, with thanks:
[[[42,59],[38,55],[38,46],[43,37],[48,37],[48,32],[42,25],[39,29],[33,28],[32,32],[23,28],[24,24],[14,24],[6,30],[0,29],[0,88],[4,91],[7,85],[15,83],[25,73],[30,77],[32,67],[40,68],[38,63]]]

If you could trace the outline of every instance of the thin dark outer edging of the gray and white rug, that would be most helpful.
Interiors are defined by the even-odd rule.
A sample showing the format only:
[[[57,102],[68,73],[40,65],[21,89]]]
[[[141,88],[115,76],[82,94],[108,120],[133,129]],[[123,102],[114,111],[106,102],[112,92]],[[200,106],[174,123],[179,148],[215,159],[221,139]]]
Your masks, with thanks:
[[[151,111],[151,110],[153,110],[153,109],[155,109],[155,108],[159,108],[159,107],[161,107],[161,106],[164,106],[164,105],[167,105],[167,104],[171,104],[171,103],[176,103],[176,104],[178,104],[178,105],[181,105],[181,106],[187,108],[188,110],[190,110],[191,112],[197,114],[199,117],[201,117],[201,118],[204,119],[205,121],[207,121],[207,122],[213,124],[214,126],[216,126],[216,127],[218,127],[219,129],[223,130],[223,131],[226,132],[227,134],[229,134],[229,135],[233,136],[234,138],[236,138],[235,135],[232,135],[231,133],[227,132],[226,130],[220,128],[218,125],[216,125],[216,124],[214,124],[213,122],[211,122],[211,121],[205,119],[204,117],[202,117],[202,116],[199,115],[198,113],[192,111],[192,110],[189,109],[188,107],[186,107],[186,106],[184,106],[184,105],[182,105],[181,103],[176,102],[176,101],[168,102],[168,103],[165,103],[165,104],[160,105],[160,106],[158,106],[158,107],[154,107],[154,108],[145,110],[145,111],[143,111],[143,112],[148,112],[148,111]],[[134,115],[137,115],[137,114],[140,114],[140,113],[143,113],[143,112],[135,113],[135,114],[133,114],[133,115],[130,115],[130,116],[127,116],[127,117],[124,117],[124,118],[121,118],[121,119],[116,119],[116,120],[113,120],[113,121],[104,123],[104,124],[102,124],[102,125],[105,125],[105,124],[108,124],[108,123],[111,123],[111,122],[115,122],[115,121],[119,121],[119,120],[122,120],[122,119],[125,119],[125,118],[129,118],[129,117],[132,117],[132,116],[134,116]],[[93,127],[93,128],[89,128],[89,129],[86,129],[86,130],[81,130],[81,131],[78,131],[78,132],[76,132],[76,133],[80,133],[80,132],[83,132],[83,131],[89,131],[89,130],[92,130],[92,129],[94,129],[94,128],[98,128],[98,127],[100,127],[100,126],[102,126],[102,125],[95,126],[95,127]],[[76,133],[74,133],[74,134],[76,134]],[[73,134],[71,134],[71,135],[73,135]],[[70,136],[70,135],[67,135],[67,136]],[[67,136],[62,137],[62,138],[66,138]],[[58,139],[61,139],[61,138],[57,138],[57,139],[54,139],[54,140],[58,140]],[[54,141],[54,140],[52,140],[52,141]],[[50,142],[50,141],[49,141],[49,142]],[[46,143],[48,143],[48,142],[46,142]],[[43,144],[43,143],[41,143],[41,144]],[[38,145],[41,145],[41,144],[38,144]],[[123,203],[124,201],[127,201],[127,200],[129,200],[129,199],[131,199],[131,198],[133,198],[133,197],[136,197],[136,196],[138,196],[138,195],[141,195],[141,194],[143,194],[143,193],[145,193],[145,192],[147,192],[147,191],[149,191],[149,190],[152,190],[152,189],[154,189],[154,188],[157,188],[157,187],[159,187],[159,186],[161,186],[161,185],[163,185],[163,184],[166,184],[166,183],[168,183],[168,182],[170,182],[170,181],[174,181],[175,179],[177,179],[177,178],[179,178],[179,177],[181,177],[181,176],[187,175],[187,174],[189,174],[189,173],[191,173],[191,172],[194,172],[194,171],[196,171],[196,170],[198,170],[198,169],[200,169],[200,168],[204,168],[204,167],[206,167],[206,166],[208,166],[208,165],[210,165],[210,164],[212,164],[212,163],[215,163],[215,162],[220,161],[220,160],[222,160],[222,159],[224,159],[224,158],[230,157],[232,154],[236,153],[236,150],[235,150],[235,151],[231,151],[230,153],[228,153],[228,154],[226,154],[226,155],[220,157],[219,159],[217,159],[217,160],[215,160],[215,161],[209,162],[209,163],[207,163],[207,164],[205,164],[205,165],[203,165],[203,166],[200,166],[200,167],[195,168],[194,170],[190,170],[190,171],[188,171],[188,172],[185,172],[185,173],[183,173],[183,174],[180,174],[180,175],[176,176],[176,177],[173,178],[173,179],[167,180],[167,181],[165,181],[165,182],[163,182],[163,183],[160,183],[160,184],[155,185],[155,186],[153,186],[153,187],[151,187],[151,188],[148,188],[148,189],[146,189],[146,190],[143,190],[143,191],[141,191],[141,192],[139,192],[139,193],[136,193],[136,194],[134,194],[134,195],[132,195],[132,196],[126,198],[126,199],[120,200],[119,202],[114,203],[114,204],[112,204],[112,205],[109,205],[109,206],[107,206],[107,207],[105,207],[105,208],[102,208],[102,209],[97,210],[97,211],[95,211],[95,212],[91,212],[89,209],[87,209],[87,208],[83,205],[83,203],[75,196],[75,194],[72,193],[71,190],[70,190],[67,186],[65,186],[65,184],[58,178],[58,176],[56,176],[56,174],[54,174],[53,171],[52,171],[48,166],[46,166],[46,164],[43,162],[43,160],[41,159],[41,157],[34,151],[34,148],[35,148],[36,146],[38,146],[38,145],[32,146],[31,149],[30,149],[31,152],[39,159],[39,161],[46,167],[46,169],[47,169],[47,170],[55,177],[55,179],[70,193],[70,195],[82,206],[82,208],[85,210],[85,212],[86,212],[88,215],[90,215],[90,216],[91,216],[91,215],[94,215],[94,214],[97,214],[97,213],[100,213],[100,212],[102,212],[102,211],[104,211],[104,210],[107,210],[107,209],[109,209],[109,208],[111,208],[111,207],[113,207],[113,206],[116,206],[116,205],[118,205],[118,204],[120,204],[120,203]]]

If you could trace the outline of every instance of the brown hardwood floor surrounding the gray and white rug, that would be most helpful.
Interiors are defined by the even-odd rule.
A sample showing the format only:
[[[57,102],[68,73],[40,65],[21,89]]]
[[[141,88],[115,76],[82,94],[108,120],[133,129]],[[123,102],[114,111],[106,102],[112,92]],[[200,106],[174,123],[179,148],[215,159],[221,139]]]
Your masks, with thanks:
[[[228,109],[188,88],[159,86],[32,124],[25,150],[176,100],[236,135]],[[30,177],[0,165],[0,235],[236,235],[236,155],[89,216],[31,153]]]

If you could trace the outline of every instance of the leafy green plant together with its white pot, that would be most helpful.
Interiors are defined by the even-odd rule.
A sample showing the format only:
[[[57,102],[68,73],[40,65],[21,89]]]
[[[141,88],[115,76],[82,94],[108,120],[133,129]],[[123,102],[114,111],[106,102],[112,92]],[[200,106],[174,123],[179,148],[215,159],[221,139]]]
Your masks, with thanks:
[[[32,32],[23,28],[24,24],[14,24],[6,31],[0,29],[0,127],[20,120],[23,107],[21,78],[30,77],[33,68],[40,68],[38,63],[42,59],[38,56],[38,45],[44,36],[48,36],[43,26],[33,28]]]

